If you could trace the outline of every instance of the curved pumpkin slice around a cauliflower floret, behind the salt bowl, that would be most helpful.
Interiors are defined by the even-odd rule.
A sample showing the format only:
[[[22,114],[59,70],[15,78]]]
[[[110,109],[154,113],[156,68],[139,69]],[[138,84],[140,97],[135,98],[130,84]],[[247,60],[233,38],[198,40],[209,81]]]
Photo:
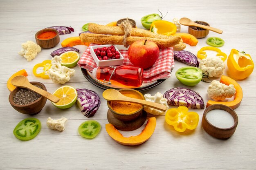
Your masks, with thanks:
[[[241,86],[234,79],[231,79],[230,77],[227,77],[225,75],[221,76],[220,82],[223,84],[226,84],[227,86],[229,86],[229,84],[234,85],[234,87],[236,88],[236,94],[235,94],[234,100],[231,102],[216,102],[213,100],[209,100],[207,102],[206,107],[208,107],[212,104],[223,104],[223,105],[231,107],[232,109],[237,108],[243,99],[243,90],[242,90]]]

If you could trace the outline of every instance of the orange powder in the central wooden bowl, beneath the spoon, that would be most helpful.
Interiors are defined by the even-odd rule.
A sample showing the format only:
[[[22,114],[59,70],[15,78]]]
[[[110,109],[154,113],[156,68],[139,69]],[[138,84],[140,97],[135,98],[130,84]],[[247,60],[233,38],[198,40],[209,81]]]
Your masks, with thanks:
[[[130,93],[130,92],[123,92],[120,91],[123,95],[127,97],[132,97],[136,99],[143,99],[139,94],[137,93]],[[117,112],[117,113],[122,113],[122,114],[130,114],[134,113],[139,108],[141,108],[140,104],[135,104],[135,103],[130,103],[130,102],[111,102],[110,104],[112,106],[112,109]]]

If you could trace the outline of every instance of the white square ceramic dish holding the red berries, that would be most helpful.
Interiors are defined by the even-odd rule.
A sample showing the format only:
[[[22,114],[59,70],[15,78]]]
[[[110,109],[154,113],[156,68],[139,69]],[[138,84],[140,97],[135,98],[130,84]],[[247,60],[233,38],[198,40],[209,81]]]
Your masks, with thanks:
[[[90,46],[90,53],[99,67],[105,67],[105,66],[117,66],[117,65],[122,65],[124,62],[124,57],[121,55],[120,51],[117,49],[117,47],[114,45],[116,51],[120,53],[120,58],[119,59],[112,59],[112,60],[99,60],[97,55],[94,53],[94,49],[97,48],[103,48],[103,47],[110,47],[112,45],[96,45],[96,46]]]

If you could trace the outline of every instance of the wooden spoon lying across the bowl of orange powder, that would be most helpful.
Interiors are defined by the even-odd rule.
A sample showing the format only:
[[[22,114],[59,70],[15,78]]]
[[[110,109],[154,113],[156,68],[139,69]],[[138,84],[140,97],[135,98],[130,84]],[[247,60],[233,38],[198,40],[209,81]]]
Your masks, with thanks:
[[[155,108],[157,110],[161,110],[161,111],[166,111],[166,106],[162,105],[162,104],[158,104],[155,102],[150,102],[150,101],[146,101],[146,100],[141,100],[141,99],[135,99],[135,98],[131,98],[131,97],[126,97],[125,95],[123,95],[122,93],[120,93],[119,91],[115,90],[115,89],[107,89],[106,91],[104,91],[102,93],[104,99],[108,100],[108,101],[119,101],[119,102],[131,102],[131,103],[136,103],[136,104],[141,104],[143,106],[148,106],[150,108]]]

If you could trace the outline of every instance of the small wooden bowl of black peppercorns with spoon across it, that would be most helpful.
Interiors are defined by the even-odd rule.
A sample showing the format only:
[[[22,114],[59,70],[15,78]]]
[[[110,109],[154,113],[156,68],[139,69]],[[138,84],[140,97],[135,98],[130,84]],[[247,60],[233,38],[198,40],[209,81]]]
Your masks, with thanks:
[[[195,21],[195,23],[210,26],[207,22],[204,21]],[[194,35],[195,38],[204,38],[209,34],[209,30],[197,26],[189,26],[189,34]]]

